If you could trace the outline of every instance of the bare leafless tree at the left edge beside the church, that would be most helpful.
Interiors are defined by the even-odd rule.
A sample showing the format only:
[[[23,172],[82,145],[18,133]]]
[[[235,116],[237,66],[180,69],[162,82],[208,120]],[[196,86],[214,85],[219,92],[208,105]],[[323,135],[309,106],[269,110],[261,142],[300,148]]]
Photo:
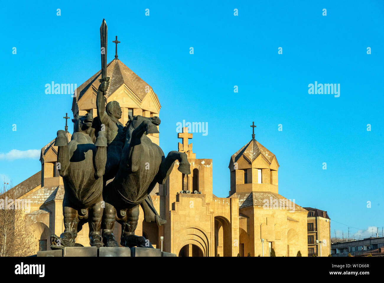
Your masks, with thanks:
[[[33,255],[36,245],[28,231],[25,206],[16,200],[12,187],[5,181],[0,187],[0,256]]]

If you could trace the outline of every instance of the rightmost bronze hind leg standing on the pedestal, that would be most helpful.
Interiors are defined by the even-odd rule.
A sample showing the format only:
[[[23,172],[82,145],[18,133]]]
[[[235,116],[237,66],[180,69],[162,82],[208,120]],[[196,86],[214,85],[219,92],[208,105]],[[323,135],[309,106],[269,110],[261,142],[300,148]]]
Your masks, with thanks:
[[[120,245],[132,248],[133,246],[145,248],[146,239],[135,235],[137,221],[139,220],[139,205],[128,208],[121,222]]]

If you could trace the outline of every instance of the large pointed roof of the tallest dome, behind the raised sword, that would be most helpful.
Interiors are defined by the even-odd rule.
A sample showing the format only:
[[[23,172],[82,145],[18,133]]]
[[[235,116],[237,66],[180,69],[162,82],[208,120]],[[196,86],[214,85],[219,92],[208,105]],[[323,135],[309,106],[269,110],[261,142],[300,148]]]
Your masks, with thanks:
[[[149,93],[148,90],[151,89],[151,86],[144,82],[144,80],[124,65],[118,58],[115,58],[107,65],[107,77],[110,77],[111,79],[109,80],[108,94],[106,95],[106,98],[112,95],[124,83],[141,101]],[[90,87],[93,87],[95,90],[99,88],[99,78],[101,78],[101,70],[77,88],[77,97],[73,98],[72,111],[75,109],[76,102],[83,97],[84,93],[86,93]],[[156,93],[155,96],[157,100],[159,100]]]

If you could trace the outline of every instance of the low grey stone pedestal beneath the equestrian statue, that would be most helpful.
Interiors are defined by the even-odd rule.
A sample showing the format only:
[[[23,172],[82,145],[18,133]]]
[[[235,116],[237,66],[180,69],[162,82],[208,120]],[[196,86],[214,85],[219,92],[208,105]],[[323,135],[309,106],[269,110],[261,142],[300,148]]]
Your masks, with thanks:
[[[39,251],[37,256],[176,256],[152,248],[96,248],[95,246],[69,247],[64,250]]]

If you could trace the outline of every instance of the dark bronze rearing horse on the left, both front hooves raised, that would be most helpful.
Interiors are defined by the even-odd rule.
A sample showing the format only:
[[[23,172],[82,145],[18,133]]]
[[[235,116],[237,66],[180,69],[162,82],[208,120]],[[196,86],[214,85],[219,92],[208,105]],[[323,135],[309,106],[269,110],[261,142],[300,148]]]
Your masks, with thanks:
[[[63,215],[65,230],[60,237],[51,235],[51,248],[75,246],[77,233],[89,223],[89,244],[103,246],[100,229],[103,216],[103,175],[107,160],[107,140],[100,131],[93,143],[91,113],[72,120],[74,133],[68,143],[63,130],[57,132],[58,170],[64,182]],[[76,244],[78,245],[78,244]]]

